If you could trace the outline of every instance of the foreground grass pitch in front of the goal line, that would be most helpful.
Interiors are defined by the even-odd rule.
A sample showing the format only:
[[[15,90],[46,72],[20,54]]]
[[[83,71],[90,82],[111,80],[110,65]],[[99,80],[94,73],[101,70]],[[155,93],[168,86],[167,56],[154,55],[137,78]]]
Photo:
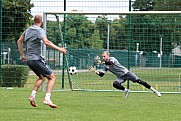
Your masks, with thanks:
[[[52,93],[59,107],[51,109],[42,104],[44,92],[37,108],[29,105],[29,88],[0,92],[0,121],[181,121],[180,94],[60,91]]]

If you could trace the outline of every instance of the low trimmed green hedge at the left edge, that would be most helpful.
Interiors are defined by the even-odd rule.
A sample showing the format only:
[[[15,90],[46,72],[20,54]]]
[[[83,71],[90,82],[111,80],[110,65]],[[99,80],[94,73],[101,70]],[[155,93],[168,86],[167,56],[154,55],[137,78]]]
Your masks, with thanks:
[[[24,65],[2,65],[1,83],[2,87],[24,87],[28,79],[29,68]]]

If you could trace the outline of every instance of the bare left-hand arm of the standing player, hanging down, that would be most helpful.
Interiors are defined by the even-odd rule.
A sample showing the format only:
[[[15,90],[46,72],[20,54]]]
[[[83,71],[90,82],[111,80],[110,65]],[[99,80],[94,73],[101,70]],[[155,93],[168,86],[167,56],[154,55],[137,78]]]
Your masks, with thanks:
[[[25,62],[26,58],[25,58],[25,55],[24,55],[24,52],[23,52],[23,40],[24,40],[24,36],[21,35],[20,38],[17,41],[17,45],[18,45],[19,53],[21,55],[21,59],[22,59],[23,62]]]

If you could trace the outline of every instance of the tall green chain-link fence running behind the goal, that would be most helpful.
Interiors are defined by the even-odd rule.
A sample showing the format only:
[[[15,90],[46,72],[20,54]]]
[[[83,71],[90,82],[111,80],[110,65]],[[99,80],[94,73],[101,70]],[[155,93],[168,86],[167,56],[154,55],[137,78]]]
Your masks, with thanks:
[[[159,0],[0,0],[0,3],[1,66],[26,65],[20,59],[16,41],[22,32],[32,25],[33,16],[37,13],[43,15],[44,12],[62,11],[121,13],[181,10],[181,2],[178,0],[172,2]],[[62,14],[60,18],[63,41],[68,47],[67,57],[70,66],[85,70],[94,63],[94,56],[100,56],[102,50],[110,50],[112,56],[118,57],[124,66],[138,73],[140,78],[151,81],[153,86],[158,88],[160,85],[157,81],[166,80],[168,84],[166,82],[164,86],[172,89],[162,89],[165,88],[164,86],[159,89],[174,92],[180,90],[180,14],[92,14],[88,17],[82,14],[66,14],[66,16]],[[48,16],[47,28],[48,39],[61,46],[60,33],[54,16]],[[57,75],[55,88],[69,88],[66,77],[65,82],[62,82],[62,55],[47,48],[46,62]],[[101,66],[98,68],[101,69]],[[16,72],[13,73],[16,74]],[[29,77],[24,87],[31,87],[36,79],[31,71]],[[72,78],[83,80],[81,76]],[[112,80],[114,79],[110,78],[110,82]],[[83,85],[89,88],[94,83],[98,82],[84,82]],[[109,86],[105,84],[103,89]],[[140,88],[135,88],[135,90],[140,90]]]

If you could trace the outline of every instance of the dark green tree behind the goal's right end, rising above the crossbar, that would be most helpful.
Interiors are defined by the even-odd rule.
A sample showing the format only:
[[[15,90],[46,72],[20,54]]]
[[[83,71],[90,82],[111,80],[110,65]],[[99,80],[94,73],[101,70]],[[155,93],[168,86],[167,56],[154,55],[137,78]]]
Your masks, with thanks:
[[[156,11],[174,11],[181,10],[181,1],[178,0],[136,0],[133,3],[134,10],[148,10],[147,4],[152,1],[152,10]],[[128,17],[128,16],[127,16]],[[159,51],[160,50],[160,37],[163,40],[163,52],[171,53],[173,49],[173,43],[181,43],[180,37],[181,31],[178,29],[181,22],[179,15],[134,15],[131,16],[131,28],[132,39],[131,44],[136,45],[140,43],[140,49],[146,52]],[[136,29],[134,29],[136,28]],[[132,45],[132,47],[135,47]],[[135,48],[132,48],[135,50]]]

